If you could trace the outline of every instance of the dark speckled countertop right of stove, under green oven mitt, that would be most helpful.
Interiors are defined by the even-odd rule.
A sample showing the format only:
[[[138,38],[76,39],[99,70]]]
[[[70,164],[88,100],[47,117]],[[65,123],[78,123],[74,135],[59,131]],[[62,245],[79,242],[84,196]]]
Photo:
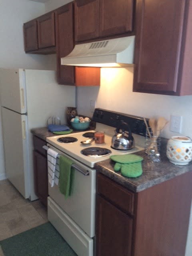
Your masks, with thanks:
[[[161,147],[161,162],[159,163],[151,162],[144,150],[135,154],[144,158],[142,161],[143,173],[138,178],[127,178],[122,176],[120,172],[115,172],[113,170],[115,162],[110,159],[96,163],[95,168],[98,172],[108,176],[132,192],[140,192],[156,184],[160,184],[166,180],[192,171],[192,161],[188,165],[175,165],[168,160],[166,157],[165,141],[164,145]]]

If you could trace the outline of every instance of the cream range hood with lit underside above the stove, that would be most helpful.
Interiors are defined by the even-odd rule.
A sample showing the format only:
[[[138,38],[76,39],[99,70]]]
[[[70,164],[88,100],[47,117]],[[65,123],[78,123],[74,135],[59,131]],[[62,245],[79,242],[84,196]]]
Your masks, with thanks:
[[[129,66],[133,64],[135,36],[110,40],[76,44],[66,57],[61,58],[62,65],[72,66]]]

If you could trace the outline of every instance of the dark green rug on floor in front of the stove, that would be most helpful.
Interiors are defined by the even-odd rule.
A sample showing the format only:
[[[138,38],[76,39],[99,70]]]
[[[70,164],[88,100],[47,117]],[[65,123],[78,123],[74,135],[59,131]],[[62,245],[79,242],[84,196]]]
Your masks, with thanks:
[[[4,256],[77,256],[50,222],[0,241]]]

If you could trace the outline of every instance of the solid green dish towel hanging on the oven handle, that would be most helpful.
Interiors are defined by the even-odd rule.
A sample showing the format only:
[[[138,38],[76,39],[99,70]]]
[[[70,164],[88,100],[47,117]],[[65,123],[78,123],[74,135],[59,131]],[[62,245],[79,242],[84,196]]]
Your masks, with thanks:
[[[65,198],[71,196],[73,191],[74,168],[72,167],[73,161],[66,157],[60,156],[59,158],[59,190],[64,194]]]

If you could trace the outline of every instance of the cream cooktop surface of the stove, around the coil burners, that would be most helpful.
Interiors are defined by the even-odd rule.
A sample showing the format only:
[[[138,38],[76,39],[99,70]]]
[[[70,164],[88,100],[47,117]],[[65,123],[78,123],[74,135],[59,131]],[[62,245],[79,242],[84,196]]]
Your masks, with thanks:
[[[80,142],[83,140],[87,140],[88,137],[86,134],[91,134],[94,132],[98,131],[104,131],[105,132],[105,138],[104,138],[104,144],[96,144],[95,141],[93,141],[89,145],[83,145]],[[52,146],[58,148],[62,152],[66,153],[68,156],[71,156],[72,158],[75,158],[79,162],[82,162],[86,164],[87,166],[94,167],[94,164],[96,162],[100,162],[102,160],[108,159],[112,155],[117,155],[117,154],[131,154],[138,152],[143,149],[143,142],[144,142],[144,137],[138,136],[138,135],[133,135],[134,137],[137,137],[136,143],[134,148],[131,150],[115,150],[111,148],[111,140],[112,140],[112,134],[114,134],[114,128],[106,126],[104,124],[97,124],[96,130],[90,130],[90,131],[83,131],[83,132],[76,132],[72,134],[66,134],[66,135],[59,135],[59,136],[53,136],[53,137],[48,137],[46,138],[46,141],[50,143]],[[140,137],[140,139],[139,139]],[[65,138],[66,140],[62,140],[62,138]],[[69,140],[67,140],[69,138]],[[74,142],[69,142],[70,140],[75,140]],[[67,142],[65,142],[67,141]],[[101,156],[86,156],[82,153],[82,150],[92,150],[94,148],[102,148],[102,149],[107,149],[109,153],[106,152],[106,155],[101,155]],[[93,149],[93,150],[94,150]]]

